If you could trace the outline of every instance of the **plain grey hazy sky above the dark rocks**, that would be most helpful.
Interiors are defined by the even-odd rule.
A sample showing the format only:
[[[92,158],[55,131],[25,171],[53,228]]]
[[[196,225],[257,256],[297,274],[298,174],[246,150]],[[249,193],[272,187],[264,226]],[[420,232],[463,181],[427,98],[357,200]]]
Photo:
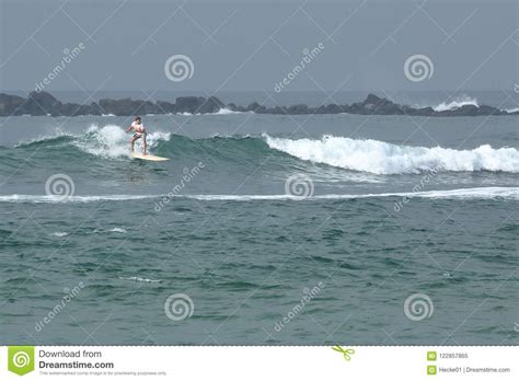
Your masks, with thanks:
[[[510,90],[518,3],[0,0],[0,90],[33,90],[79,43],[45,90],[272,91],[319,43],[289,90]],[[432,61],[430,79],[404,76],[416,54]],[[172,55],[193,60],[192,78],[166,78]]]

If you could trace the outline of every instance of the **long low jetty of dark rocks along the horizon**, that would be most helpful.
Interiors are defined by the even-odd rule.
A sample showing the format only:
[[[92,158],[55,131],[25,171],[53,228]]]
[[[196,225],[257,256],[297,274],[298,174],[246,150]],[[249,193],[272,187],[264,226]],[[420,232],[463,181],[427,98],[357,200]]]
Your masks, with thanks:
[[[482,116],[482,115],[519,115],[518,112],[509,113],[492,106],[463,105],[461,107],[435,111],[432,107],[411,107],[400,105],[392,101],[369,94],[366,100],[350,105],[328,104],[311,107],[305,104],[292,106],[266,107],[256,102],[249,106],[237,106],[233,103],[223,104],[216,96],[180,96],[174,103],[158,101],[100,100],[91,104],[61,103],[46,92],[32,92],[26,99],[18,95],[0,93],[0,116],[16,115],[107,115],[129,116],[138,114],[211,114],[221,108],[237,112],[254,112],[256,114],[359,114],[359,115],[411,115],[411,116]]]

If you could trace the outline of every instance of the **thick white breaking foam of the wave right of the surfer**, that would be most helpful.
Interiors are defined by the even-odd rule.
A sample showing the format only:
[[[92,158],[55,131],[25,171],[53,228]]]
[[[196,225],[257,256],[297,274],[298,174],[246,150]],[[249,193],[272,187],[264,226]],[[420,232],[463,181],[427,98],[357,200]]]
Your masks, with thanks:
[[[473,150],[396,146],[379,140],[324,136],[321,139],[284,139],[265,135],[268,147],[301,160],[374,174],[426,171],[519,172],[519,151],[483,145]]]

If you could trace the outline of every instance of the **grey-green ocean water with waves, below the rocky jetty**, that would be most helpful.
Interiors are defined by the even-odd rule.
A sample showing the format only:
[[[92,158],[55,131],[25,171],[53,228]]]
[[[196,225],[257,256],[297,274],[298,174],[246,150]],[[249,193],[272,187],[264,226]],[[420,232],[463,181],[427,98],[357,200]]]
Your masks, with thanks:
[[[0,118],[3,344],[517,339],[517,116],[142,119]]]

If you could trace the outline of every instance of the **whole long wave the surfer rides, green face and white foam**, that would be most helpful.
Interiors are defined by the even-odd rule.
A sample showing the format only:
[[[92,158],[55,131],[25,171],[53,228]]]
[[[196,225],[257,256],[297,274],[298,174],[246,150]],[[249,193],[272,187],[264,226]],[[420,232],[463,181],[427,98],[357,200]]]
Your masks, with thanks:
[[[136,149],[140,150],[141,141]],[[129,157],[129,136],[117,125],[90,126],[82,135],[58,130],[15,146],[15,149],[46,148],[42,158],[69,160],[81,153],[103,159]],[[43,147],[39,147],[43,146]],[[152,131],[148,135],[151,152],[183,160],[199,160],[212,152],[220,165],[249,165],[270,159],[273,165],[282,168],[312,169],[313,164],[325,164],[336,169],[370,173],[374,175],[418,174],[425,172],[508,172],[519,173],[519,151],[515,148],[493,148],[482,145],[472,150],[442,147],[412,147],[392,145],[380,140],[361,140],[346,137],[323,136],[320,139],[288,139],[262,136],[218,136],[192,139],[181,135]],[[72,151],[71,151],[72,150]],[[305,161],[301,162],[301,161]],[[321,168],[319,171],[323,171]]]

